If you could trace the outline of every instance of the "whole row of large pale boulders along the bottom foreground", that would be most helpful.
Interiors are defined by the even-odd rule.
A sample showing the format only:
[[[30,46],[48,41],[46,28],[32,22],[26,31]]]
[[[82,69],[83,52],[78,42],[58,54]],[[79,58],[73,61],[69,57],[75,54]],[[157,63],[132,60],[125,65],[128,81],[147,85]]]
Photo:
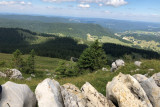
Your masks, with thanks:
[[[106,85],[106,97],[86,82],[81,90],[62,86],[49,78],[38,84],[35,95],[27,85],[7,82],[0,87],[0,107],[159,107],[159,73],[147,78],[141,74],[119,73]]]

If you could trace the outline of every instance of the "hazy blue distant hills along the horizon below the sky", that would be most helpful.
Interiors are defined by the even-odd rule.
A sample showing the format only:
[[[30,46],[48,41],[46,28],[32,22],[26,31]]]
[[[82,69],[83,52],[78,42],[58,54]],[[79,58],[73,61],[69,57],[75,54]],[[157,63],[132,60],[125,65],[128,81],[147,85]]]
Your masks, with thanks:
[[[34,21],[43,23],[87,23],[98,24],[114,32],[123,32],[128,30],[143,31],[160,31],[160,23],[127,21],[115,19],[100,18],[75,18],[75,17],[46,17],[46,16],[29,16],[29,15],[0,15],[0,19]]]

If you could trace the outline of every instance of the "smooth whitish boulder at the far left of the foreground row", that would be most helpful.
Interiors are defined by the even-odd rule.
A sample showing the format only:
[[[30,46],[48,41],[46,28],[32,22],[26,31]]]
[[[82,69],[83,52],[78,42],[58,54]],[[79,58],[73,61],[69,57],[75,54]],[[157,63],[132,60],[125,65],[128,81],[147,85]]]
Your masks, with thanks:
[[[0,107],[35,107],[36,97],[25,84],[6,82],[2,85]]]

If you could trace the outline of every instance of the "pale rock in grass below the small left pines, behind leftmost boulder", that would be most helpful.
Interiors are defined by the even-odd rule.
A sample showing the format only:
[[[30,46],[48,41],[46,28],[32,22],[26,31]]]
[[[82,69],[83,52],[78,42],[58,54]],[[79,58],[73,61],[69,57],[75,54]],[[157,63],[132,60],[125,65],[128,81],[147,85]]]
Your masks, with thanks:
[[[17,69],[9,69],[6,71],[7,77],[10,79],[23,79],[22,73]]]

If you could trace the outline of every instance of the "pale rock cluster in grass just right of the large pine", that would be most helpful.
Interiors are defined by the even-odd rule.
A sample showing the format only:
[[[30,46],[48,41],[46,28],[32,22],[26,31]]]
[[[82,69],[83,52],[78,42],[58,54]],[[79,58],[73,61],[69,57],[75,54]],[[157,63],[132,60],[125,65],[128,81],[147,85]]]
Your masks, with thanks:
[[[117,70],[119,67],[124,66],[125,62],[121,59],[116,60],[115,62],[112,63],[112,68],[111,72]]]

